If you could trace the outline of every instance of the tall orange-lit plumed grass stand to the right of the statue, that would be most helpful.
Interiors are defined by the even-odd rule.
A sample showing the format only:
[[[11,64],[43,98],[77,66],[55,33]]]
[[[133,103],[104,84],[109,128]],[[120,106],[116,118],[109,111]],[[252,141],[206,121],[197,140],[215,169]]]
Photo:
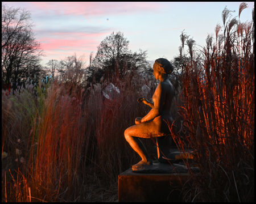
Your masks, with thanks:
[[[185,62],[181,73],[181,114],[201,172],[191,172],[186,201],[254,200],[254,27],[250,25],[246,23],[249,29],[238,37],[234,20],[229,20],[225,40],[216,33],[220,46],[212,45],[208,36],[200,52],[189,48],[191,61]],[[184,145],[177,135],[173,138]]]

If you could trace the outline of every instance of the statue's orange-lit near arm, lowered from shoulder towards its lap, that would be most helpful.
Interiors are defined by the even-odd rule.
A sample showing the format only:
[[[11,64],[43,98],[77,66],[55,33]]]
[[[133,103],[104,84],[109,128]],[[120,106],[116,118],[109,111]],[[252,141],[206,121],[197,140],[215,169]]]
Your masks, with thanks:
[[[152,107],[150,112],[148,112],[146,114],[146,116],[144,116],[141,119],[141,122],[150,121],[150,120],[154,119],[155,117],[158,117],[159,114],[162,111],[163,104],[164,104],[164,99],[166,97],[166,92],[162,90],[162,85],[161,84],[159,84],[159,86],[156,88],[154,95],[156,96],[153,99],[154,100],[154,107]]]

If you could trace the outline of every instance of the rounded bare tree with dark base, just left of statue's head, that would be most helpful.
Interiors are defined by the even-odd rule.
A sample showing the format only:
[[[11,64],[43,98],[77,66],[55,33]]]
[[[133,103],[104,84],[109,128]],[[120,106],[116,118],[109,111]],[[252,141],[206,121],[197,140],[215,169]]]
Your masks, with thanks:
[[[98,46],[96,56],[88,67],[88,82],[97,83],[102,79],[112,81],[113,76],[122,79],[125,74],[133,75],[135,71],[150,73],[146,56],[146,51],[131,52],[129,40],[123,36],[123,33],[113,32]]]

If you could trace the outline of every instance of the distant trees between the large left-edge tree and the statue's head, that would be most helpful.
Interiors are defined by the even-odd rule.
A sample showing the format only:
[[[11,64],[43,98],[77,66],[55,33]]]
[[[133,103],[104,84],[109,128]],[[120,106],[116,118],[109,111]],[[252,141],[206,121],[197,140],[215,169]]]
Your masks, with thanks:
[[[60,79],[70,82],[68,76],[74,71],[83,73],[82,87],[91,87],[93,84],[105,81],[123,80],[132,77],[135,73],[152,76],[150,63],[147,62],[147,52],[129,50],[129,40],[122,32],[112,33],[101,41],[97,47],[97,53],[89,56],[89,66],[84,63],[84,56],[77,58],[76,54],[60,61],[51,59],[47,63],[47,69],[52,78],[58,73]]]

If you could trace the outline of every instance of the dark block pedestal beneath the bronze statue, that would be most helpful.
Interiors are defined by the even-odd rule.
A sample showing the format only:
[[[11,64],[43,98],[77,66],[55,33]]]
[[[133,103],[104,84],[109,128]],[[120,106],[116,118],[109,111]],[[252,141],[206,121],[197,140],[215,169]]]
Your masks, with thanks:
[[[181,189],[189,177],[186,168],[156,163],[145,170],[133,172],[130,168],[118,176],[119,202],[182,201]]]

